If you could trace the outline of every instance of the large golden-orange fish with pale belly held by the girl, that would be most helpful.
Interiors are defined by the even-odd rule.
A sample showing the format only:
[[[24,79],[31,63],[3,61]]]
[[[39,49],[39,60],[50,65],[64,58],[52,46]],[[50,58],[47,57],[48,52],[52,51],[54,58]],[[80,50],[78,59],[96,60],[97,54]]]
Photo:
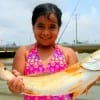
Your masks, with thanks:
[[[0,79],[11,80],[14,78],[11,71],[0,63]],[[88,86],[100,77],[100,50],[73,64],[63,71],[42,76],[18,76],[23,79],[27,95],[57,96],[73,94],[73,100],[86,92]]]

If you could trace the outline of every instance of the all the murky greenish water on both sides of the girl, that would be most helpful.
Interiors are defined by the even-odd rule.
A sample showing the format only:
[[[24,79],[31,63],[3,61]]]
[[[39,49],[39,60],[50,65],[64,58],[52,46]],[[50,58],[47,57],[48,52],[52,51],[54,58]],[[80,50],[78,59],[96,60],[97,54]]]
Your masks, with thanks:
[[[81,54],[78,54],[78,58],[79,60],[82,60],[88,55],[90,54],[81,53]],[[3,62],[6,65],[7,69],[11,70],[11,65],[13,62],[12,58],[0,59],[0,62]],[[100,98],[100,85],[94,85],[89,90],[89,93],[87,96],[83,94],[78,98],[78,100],[98,100],[98,98]],[[12,94],[6,85],[6,81],[0,80],[0,100],[23,100],[23,96]]]

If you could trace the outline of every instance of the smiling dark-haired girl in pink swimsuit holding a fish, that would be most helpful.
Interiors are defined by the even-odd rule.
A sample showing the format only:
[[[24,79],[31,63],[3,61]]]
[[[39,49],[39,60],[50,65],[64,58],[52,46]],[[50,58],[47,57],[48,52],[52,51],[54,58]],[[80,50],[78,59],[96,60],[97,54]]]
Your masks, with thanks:
[[[32,29],[36,43],[20,47],[16,52],[12,68],[16,76],[34,77],[52,74],[65,70],[78,61],[74,50],[57,45],[55,42],[61,27],[61,16],[61,10],[54,4],[45,3],[36,6],[32,15]],[[8,87],[13,93],[24,91],[23,81],[19,78],[8,81]],[[24,100],[72,100],[72,94],[24,95]]]

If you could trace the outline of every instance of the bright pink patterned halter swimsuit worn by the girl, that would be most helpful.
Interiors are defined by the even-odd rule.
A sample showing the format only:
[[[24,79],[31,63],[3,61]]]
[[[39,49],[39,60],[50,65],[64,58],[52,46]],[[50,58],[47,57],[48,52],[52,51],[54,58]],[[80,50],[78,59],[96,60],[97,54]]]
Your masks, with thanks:
[[[64,70],[68,65],[65,61],[62,51],[55,46],[53,56],[46,67],[41,62],[38,54],[37,46],[29,53],[26,59],[25,75],[38,74],[43,72],[54,73]],[[24,95],[24,100],[72,100],[71,94],[60,96],[30,96]]]

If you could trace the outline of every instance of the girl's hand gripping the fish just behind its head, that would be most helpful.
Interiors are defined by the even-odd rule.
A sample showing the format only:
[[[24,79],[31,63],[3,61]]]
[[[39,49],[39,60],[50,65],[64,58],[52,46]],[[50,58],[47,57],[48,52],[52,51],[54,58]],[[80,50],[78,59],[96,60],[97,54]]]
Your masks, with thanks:
[[[13,70],[13,74],[15,76],[20,76],[20,73],[17,72],[16,70]],[[11,92],[13,93],[21,93],[24,91],[24,84],[23,84],[23,80],[15,77],[12,80],[9,80],[7,82],[8,88]]]

